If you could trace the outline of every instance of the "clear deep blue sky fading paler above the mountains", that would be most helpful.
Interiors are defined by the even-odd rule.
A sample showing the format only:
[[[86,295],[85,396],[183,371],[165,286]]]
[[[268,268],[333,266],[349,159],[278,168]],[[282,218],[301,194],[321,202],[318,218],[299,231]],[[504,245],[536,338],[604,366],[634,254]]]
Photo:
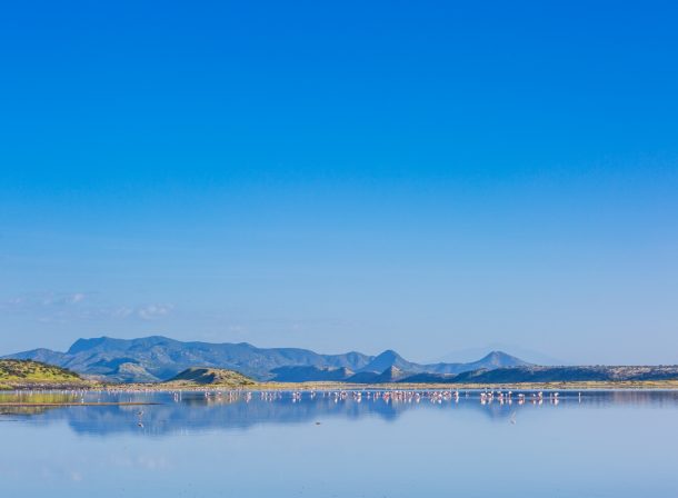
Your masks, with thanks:
[[[678,362],[678,10],[634,3],[7,4],[0,352]]]

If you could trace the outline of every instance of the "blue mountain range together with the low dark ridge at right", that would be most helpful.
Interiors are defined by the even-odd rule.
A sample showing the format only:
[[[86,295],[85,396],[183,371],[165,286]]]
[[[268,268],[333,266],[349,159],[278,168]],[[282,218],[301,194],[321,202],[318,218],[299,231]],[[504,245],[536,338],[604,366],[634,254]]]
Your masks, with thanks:
[[[568,380],[678,379],[678,367],[542,367],[501,351],[467,363],[420,365],[396,351],[319,355],[308,349],[257,348],[240,343],[182,342],[153,336],[141,339],[79,339],[68,351],[49,349],[10,355],[118,382],[171,379],[192,367],[229,369],[259,380],[380,382],[547,382]]]

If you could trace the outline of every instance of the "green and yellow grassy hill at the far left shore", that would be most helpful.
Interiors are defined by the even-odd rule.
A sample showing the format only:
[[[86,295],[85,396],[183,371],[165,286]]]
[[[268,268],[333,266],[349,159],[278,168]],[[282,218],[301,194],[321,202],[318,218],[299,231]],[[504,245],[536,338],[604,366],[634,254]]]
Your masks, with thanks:
[[[0,389],[84,386],[78,374],[31,360],[0,360]]]

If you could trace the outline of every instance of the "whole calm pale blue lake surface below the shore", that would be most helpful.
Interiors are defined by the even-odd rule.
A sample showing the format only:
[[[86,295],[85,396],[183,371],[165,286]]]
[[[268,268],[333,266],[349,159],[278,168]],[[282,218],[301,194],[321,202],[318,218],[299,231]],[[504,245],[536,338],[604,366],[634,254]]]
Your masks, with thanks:
[[[0,395],[8,497],[677,497],[678,394]],[[436,397],[438,398],[438,397]],[[149,406],[82,406],[141,401]],[[142,414],[140,414],[142,411]]]

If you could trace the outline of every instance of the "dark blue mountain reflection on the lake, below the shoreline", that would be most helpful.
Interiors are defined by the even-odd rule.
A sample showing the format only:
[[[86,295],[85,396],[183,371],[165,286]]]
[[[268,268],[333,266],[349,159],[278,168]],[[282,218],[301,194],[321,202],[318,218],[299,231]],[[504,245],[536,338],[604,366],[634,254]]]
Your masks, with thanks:
[[[42,406],[7,406],[8,404]],[[73,404],[50,406],[50,404]],[[89,404],[153,404],[90,406]],[[77,434],[133,432],[163,436],[247,429],[256,425],[322,424],[336,418],[378,417],[392,421],[409,410],[459,410],[497,422],[515,422],[521,410],[605,409],[612,406],[678,407],[675,391],[88,391],[0,394],[0,420],[26,417],[31,424],[67,422]],[[81,406],[79,406],[81,405]]]

